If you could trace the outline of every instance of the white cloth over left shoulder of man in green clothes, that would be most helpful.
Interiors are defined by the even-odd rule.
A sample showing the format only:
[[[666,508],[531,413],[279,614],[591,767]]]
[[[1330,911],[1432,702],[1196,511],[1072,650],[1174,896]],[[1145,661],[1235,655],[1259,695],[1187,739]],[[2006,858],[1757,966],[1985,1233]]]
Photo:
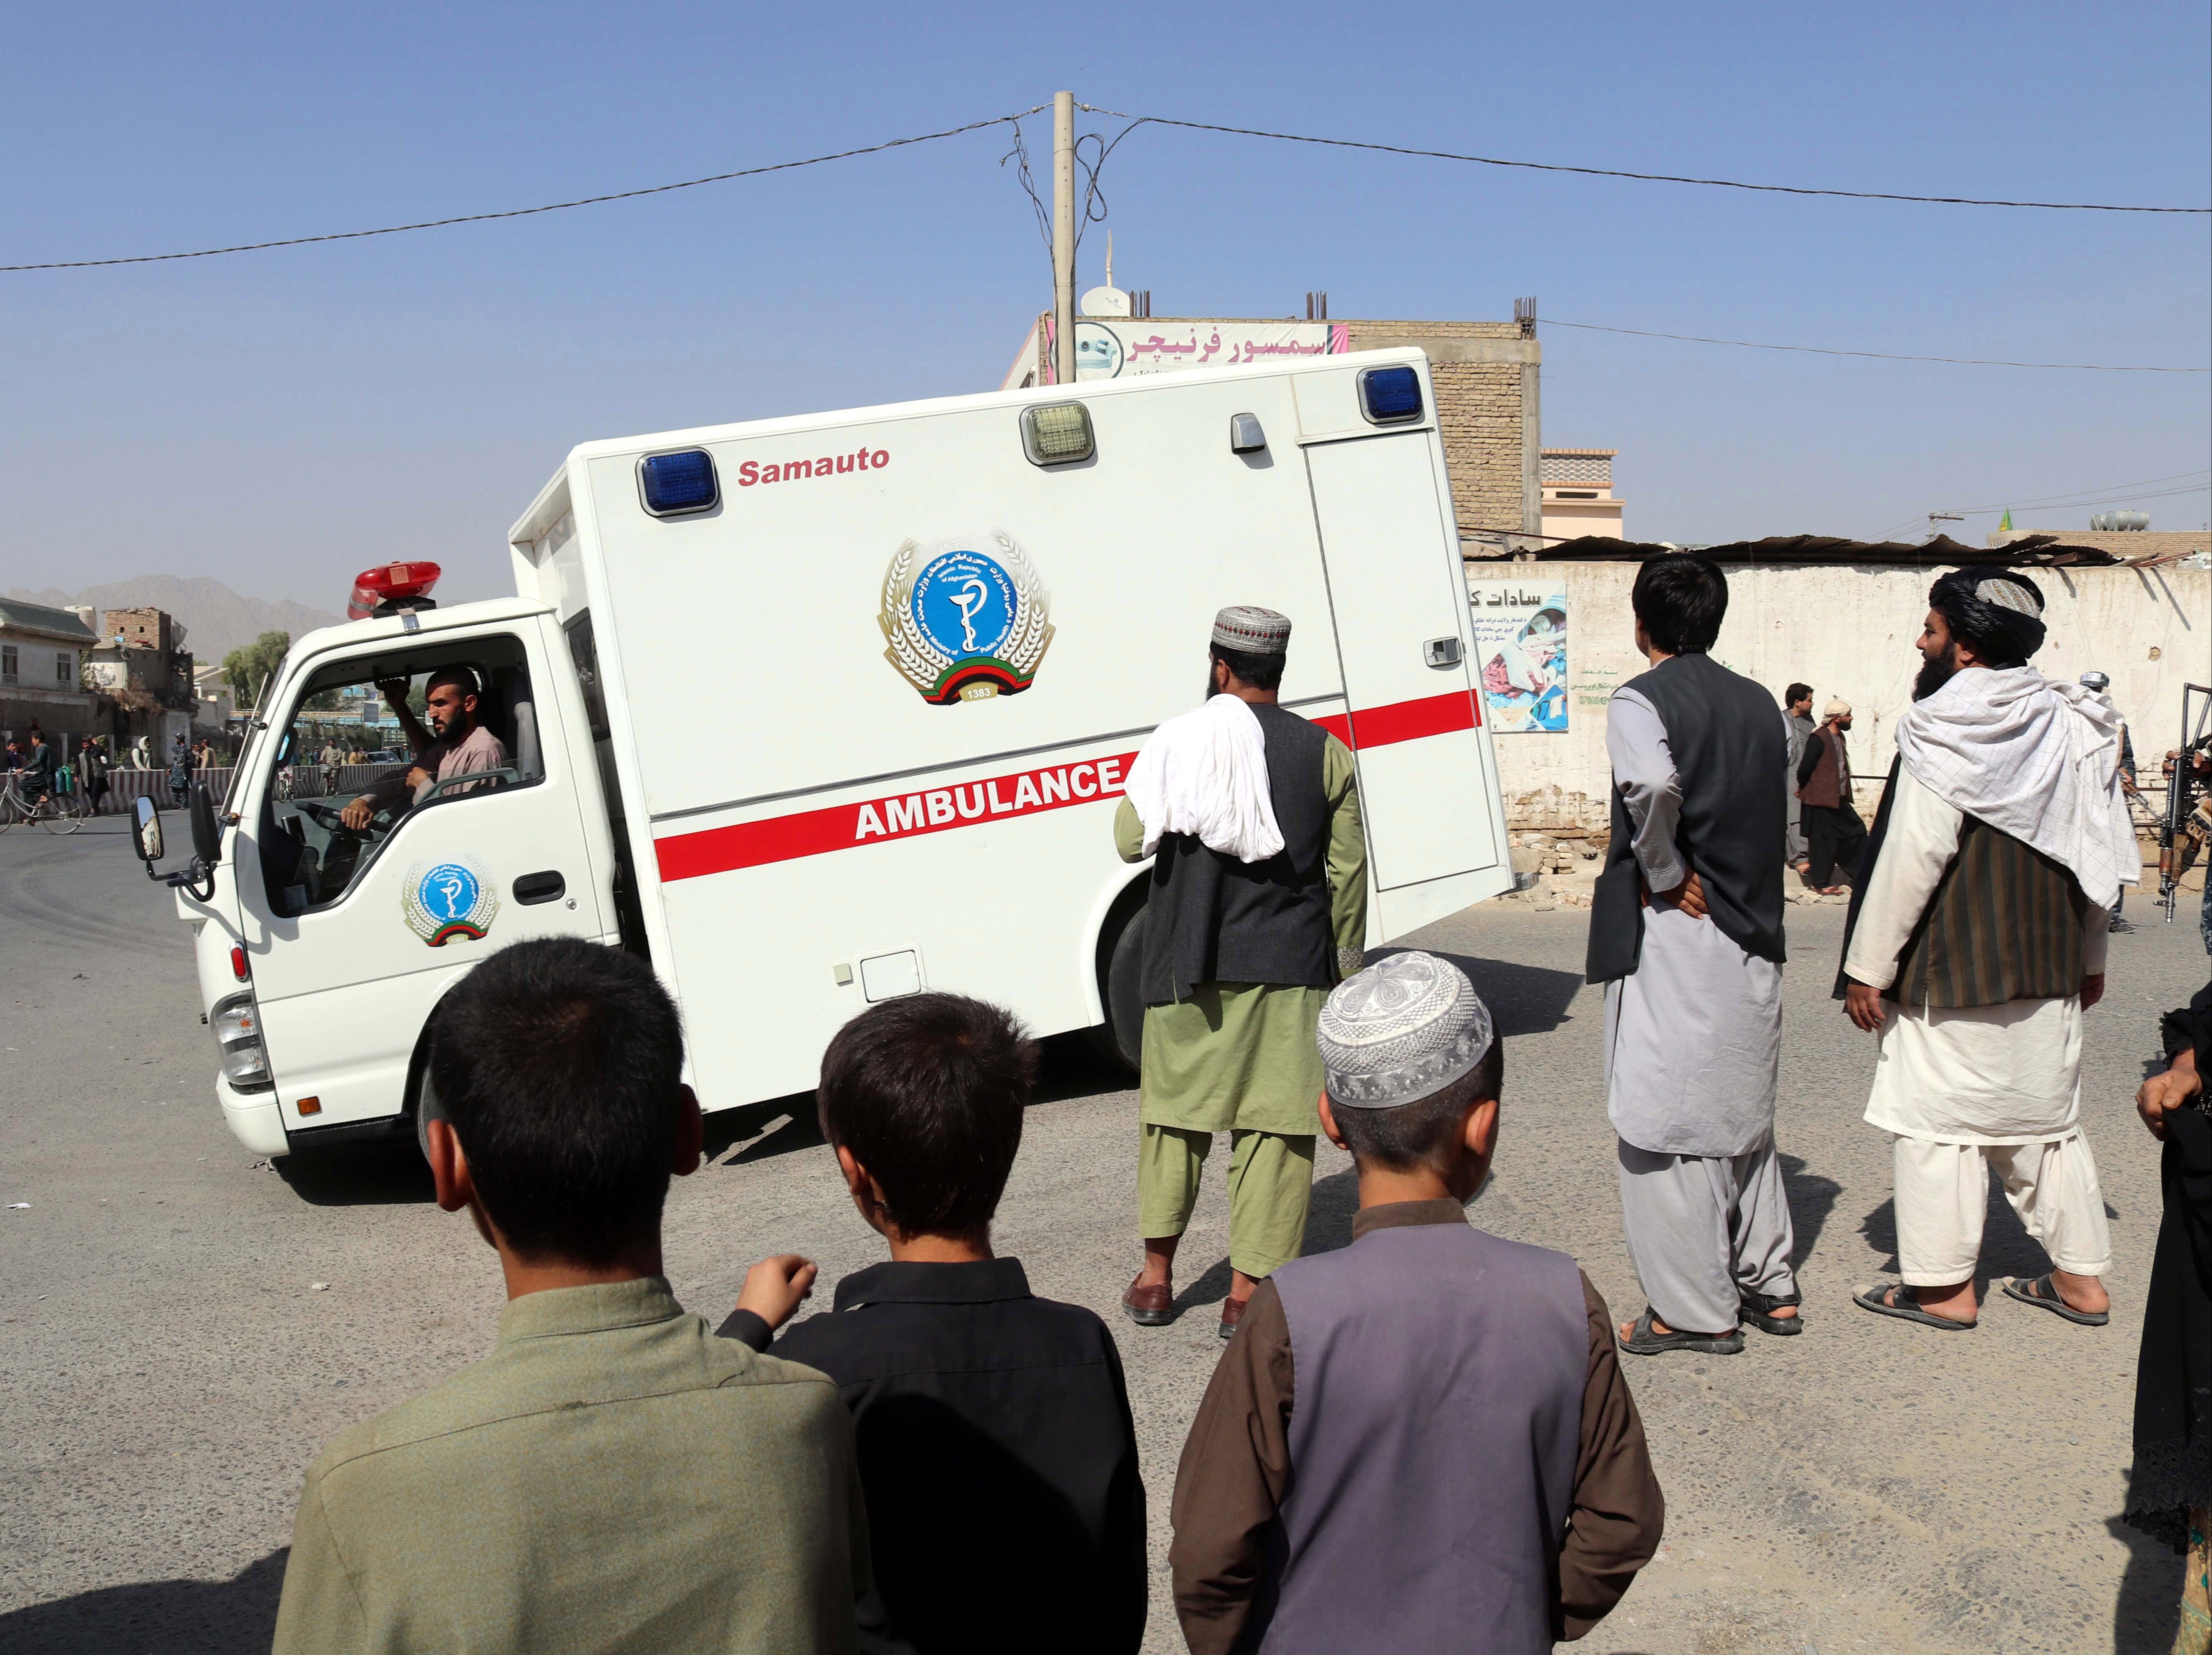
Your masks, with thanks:
[[[1267,794],[1267,739],[1234,695],[1212,695],[1152,730],[1121,785],[1144,823],[1146,856],[1164,834],[1192,834],[1241,863],[1283,850]]]

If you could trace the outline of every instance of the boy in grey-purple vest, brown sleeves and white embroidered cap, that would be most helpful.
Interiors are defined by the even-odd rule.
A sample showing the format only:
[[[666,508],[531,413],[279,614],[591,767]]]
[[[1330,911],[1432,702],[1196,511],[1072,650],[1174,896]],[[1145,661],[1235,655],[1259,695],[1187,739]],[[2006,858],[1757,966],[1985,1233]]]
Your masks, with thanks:
[[[1321,1013],[1352,1246],[1252,1292],[1175,1476],[1192,1655],[1582,1637],[1659,1547],[1610,1314],[1562,1252],[1467,1224],[1504,1053],[1458,967],[1396,954]]]

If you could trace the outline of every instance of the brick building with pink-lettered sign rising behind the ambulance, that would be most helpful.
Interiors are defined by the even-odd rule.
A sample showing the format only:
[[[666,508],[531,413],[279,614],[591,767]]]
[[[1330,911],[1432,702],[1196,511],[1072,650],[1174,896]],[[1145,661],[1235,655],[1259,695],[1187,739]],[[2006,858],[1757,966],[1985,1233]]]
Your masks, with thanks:
[[[1106,290],[1084,294],[1086,310]],[[1113,294],[1113,314],[1075,323],[1077,383],[1172,367],[1225,365],[1239,341],[1265,339],[1263,350],[1343,354],[1418,345],[1429,352],[1436,416],[1469,558],[1500,558],[1540,544],[1544,533],[1540,374],[1544,350],[1535,316],[1520,321],[1298,321],[1294,316],[1130,316],[1128,294]],[[1148,310],[1148,299],[1141,305]],[[1533,308],[1531,308],[1533,312]],[[1053,383],[1053,316],[1037,316],[1002,389]],[[1188,345],[1183,341],[1190,341]],[[1225,341],[1225,354],[1203,350]],[[1197,345],[1199,350],[1192,350]]]

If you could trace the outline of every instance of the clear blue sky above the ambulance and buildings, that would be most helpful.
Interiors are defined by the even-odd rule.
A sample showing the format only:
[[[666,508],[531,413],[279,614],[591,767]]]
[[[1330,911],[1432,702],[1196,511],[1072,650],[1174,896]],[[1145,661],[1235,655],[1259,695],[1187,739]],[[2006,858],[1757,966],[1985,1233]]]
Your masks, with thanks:
[[[1590,166],[2212,195],[2199,0],[1073,15],[29,7],[0,58],[0,263],[531,206],[1060,86]],[[1048,117],[1029,137],[1048,153]],[[449,595],[493,595],[507,524],[577,440],[995,387],[1051,301],[1006,148],[995,128],[538,219],[0,277],[0,586],[161,571],[338,606],[363,564],[431,555]],[[1338,316],[1504,319],[1537,294],[1546,316],[1732,339],[2212,358],[2205,217],[1818,201],[1164,128],[1117,150],[1106,192],[1115,274],[1159,314],[1290,314],[1325,288]],[[1104,241],[1084,241],[1084,285]],[[1544,440],[1621,449],[1637,535],[1871,535],[2212,465],[2203,374],[1542,339]],[[2208,516],[2203,491],[2141,504],[2154,527]]]

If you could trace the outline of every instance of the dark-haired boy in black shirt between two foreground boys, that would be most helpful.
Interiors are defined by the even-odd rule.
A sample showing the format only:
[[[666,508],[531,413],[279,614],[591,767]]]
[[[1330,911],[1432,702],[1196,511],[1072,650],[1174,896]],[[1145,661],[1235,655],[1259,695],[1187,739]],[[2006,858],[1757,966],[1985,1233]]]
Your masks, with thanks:
[[[953,993],[872,1007],[823,1055],[823,1137],[891,1261],[845,1277],[774,1354],[852,1407],[876,1578],[863,1651],[1144,1640],[1144,1482],[1113,1334],[991,1257],[1035,1062],[1009,1013]],[[772,1263],[796,1308],[812,1266]],[[739,1310],[721,1332],[765,1350],[772,1323]]]

